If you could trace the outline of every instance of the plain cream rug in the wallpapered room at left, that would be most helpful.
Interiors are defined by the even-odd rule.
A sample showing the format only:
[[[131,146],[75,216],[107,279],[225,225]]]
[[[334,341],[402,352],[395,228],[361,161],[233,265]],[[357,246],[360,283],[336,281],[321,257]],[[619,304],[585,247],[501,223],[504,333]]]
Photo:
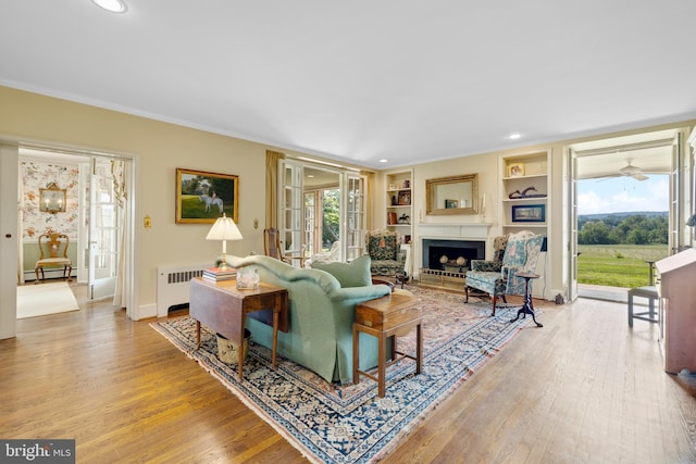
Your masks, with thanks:
[[[79,305],[67,283],[17,287],[17,318],[77,311]]]

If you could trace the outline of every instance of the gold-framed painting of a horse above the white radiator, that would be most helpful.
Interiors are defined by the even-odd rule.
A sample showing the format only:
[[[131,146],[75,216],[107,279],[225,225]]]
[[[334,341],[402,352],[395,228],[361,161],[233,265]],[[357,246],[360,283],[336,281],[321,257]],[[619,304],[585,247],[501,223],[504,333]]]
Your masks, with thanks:
[[[176,223],[239,222],[239,176],[176,168]]]

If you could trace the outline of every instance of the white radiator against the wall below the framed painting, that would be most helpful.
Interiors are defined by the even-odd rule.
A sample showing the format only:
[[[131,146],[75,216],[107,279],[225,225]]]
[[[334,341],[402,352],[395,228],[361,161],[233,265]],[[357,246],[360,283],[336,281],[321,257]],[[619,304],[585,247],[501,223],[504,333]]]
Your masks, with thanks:
[[[185,264],[157,268],[157,315],[166,316],[171,309],[188,304],[189,280],[203,274],[207,264]]]

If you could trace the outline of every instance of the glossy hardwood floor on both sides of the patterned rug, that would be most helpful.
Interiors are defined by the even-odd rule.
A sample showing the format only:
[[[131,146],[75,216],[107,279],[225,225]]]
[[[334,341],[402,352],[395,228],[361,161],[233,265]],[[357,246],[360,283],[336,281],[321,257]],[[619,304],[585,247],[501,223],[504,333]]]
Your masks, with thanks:
[[[77,462],[304,462],[195,362],[109,301],[0,340],[0,437],[75,438]],[[696,462],[696,381],[662,371],[624,304],[545,303],[388,463]]]

